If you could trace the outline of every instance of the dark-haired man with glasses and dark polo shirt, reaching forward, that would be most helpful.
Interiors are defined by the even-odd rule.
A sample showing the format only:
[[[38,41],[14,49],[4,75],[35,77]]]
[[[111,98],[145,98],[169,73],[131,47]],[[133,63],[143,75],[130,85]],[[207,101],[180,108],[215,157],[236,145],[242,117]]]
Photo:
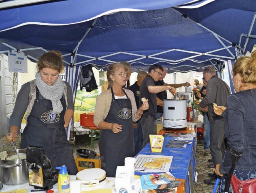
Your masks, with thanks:
[[[148,99],[148,110],[144,111],[140,119],[143,133],[143,147],[149,143],[149,135],[155,135],[155,120],[156,120],[156,94],[165,90],[169,90],[172,94],[176,94],[175,88],[171,86],[155,86],[155,82],[162,76],[163,67],[159,64],[153,64],[148,69],[148,75],[142,81],[140,86],[140,103],[142,98]]]

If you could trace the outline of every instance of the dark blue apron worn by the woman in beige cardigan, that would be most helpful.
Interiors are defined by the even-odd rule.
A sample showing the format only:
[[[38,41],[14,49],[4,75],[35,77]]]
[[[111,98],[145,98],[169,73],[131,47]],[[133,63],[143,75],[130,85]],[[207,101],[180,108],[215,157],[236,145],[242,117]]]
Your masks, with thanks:
[[[122,125],[122,131],[113,133],[111,129],[102,129],[99,139],[102,169],[107,177],[116,176],[116,167],[124,165],[125,157],[134,157],[134,136],[132,123],[132,104],[127,99],[115,99],[111,88],[112,102],[104,121]]]

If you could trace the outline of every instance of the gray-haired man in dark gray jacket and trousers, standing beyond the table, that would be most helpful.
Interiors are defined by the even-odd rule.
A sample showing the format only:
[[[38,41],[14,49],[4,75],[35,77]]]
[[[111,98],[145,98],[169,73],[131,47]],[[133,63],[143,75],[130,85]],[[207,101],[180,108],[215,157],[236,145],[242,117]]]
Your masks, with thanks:
[[[210,150],[212,155],[213,165],[208,165],[210,168],[215,168],[217,164],[222,163],[225,155],[226,147],[224,143],[225,135],[225,118],[216,115],[213,110],[213,103],[218,106],[227,106],[227,96],[230,95],[230,88],[218,76],[215,75],[215,68],[207,66],[203,70],[204,79],[208,82],[206,86],[206,96],[200,102],[202,111],[208,111],[210,126]],[[208,174],[213,176],[212,173]],[[215,177],[204,180],[206,184],[214,184]]]

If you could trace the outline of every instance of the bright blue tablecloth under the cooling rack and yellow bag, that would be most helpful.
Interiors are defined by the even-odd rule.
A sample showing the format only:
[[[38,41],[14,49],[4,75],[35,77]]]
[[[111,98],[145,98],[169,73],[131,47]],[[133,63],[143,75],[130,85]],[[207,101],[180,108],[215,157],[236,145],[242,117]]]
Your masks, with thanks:
[[[189,164],[191,162],[192,167],[192,179],[194,180],[194,169],[195,169],[195,160],[194,160],[194,151],[193,147],[195,147],[195,139],[191,141],[191,144],[187,144],[186,148],[183,147],[172,147],[167,148],[166,145],[169,141],[174,141],[175,137],[164,137],[164,145],[162,149],[162,153],[152,153],[150,143],[148,143],[137,155],[146,154],[146,155],[172,155],[172,163],[170,166],[169,172],[174,175],[174,177],[179,179],[185,179],[185,189],[186,192],[190,192],[190,182],[188,176]],[[143,175],[150,174],[140,171],[135,171],[135,175]]]

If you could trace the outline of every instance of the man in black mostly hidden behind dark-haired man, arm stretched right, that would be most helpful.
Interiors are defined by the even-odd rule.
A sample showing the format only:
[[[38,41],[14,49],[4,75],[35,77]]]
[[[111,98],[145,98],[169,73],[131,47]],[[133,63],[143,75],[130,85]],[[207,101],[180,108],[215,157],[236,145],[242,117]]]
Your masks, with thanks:
[[[174,88],[180,88],[182,86],[190,86],[189,82],[185,82],[182,84],[167,84],[164,82],[164,77],[166,76],[166,69],[163,67],[163,72],[162,72],[162,76],[161,78],[159,78],[159,80],[156,82],[156,86],[172,86]],[[162,92],[159,92],[158,94],[156,94],[157,97],[157,109],[156,109],[156,119],[159,119],[160,117],[162,117],[163,113],[164,113],[164,109],[163,109],[163,99],[167,99],[167,92],[164,90]]]

